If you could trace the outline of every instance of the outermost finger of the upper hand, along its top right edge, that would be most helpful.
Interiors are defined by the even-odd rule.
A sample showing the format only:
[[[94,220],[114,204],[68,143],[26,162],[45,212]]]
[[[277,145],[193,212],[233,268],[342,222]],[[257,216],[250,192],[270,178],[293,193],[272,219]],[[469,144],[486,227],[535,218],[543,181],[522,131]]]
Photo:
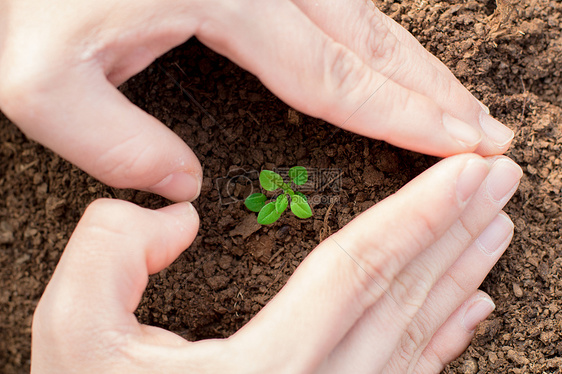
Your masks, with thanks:
[[[445,65],[371,1],[329,0],[322,6],[306,0],[293,2],[373,70],[392,77],[394,82],[424,95],[452,117],[481,130],[486,136],[478,148],[480,154],[507,150],[513,131],[490,117]]]

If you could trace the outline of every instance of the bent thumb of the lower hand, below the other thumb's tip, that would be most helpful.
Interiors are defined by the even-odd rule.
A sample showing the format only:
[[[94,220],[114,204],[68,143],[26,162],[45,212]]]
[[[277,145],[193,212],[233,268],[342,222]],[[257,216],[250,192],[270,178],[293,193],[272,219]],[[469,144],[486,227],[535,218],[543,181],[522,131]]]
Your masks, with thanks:
[[[198,227],[197,212],[189,203],[151,211],[123,201],[97,200],[69,240],[58,266],[67,277],[61,281],[68,292],[88,288],[90,300],[104,305],[108,314],[132,313],[148,275],[171,264],[191,244]],[[91,279],[98,282],[90,284]]]

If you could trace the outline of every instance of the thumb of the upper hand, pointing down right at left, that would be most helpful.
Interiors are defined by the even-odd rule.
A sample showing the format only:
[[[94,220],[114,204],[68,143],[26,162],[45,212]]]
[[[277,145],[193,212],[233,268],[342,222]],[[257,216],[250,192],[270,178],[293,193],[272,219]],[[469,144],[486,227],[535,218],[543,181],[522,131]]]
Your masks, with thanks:
[[[27,136],[113,187],[175,201],[199,195],[202,171],[192,150],[102,71],[80,65],[48,75],[4,90],[2,109]]]

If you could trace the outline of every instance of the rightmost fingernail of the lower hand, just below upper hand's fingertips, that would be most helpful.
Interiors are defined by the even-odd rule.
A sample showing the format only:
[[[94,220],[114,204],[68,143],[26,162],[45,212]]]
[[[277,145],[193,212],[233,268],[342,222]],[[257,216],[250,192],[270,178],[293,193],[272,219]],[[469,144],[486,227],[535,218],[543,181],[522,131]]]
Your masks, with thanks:
[[[515,162],[506,158],[496,160],[488,175],[486,190],[492,200],[502,202],[515,192],[522,176],[523,170]]]

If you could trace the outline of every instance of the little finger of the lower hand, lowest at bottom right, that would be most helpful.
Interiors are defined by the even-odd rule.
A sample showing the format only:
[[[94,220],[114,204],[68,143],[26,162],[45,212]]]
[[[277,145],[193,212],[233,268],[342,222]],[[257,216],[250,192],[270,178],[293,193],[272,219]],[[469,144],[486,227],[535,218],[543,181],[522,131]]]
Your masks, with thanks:
[[[474,329],[495,309],[494,302],[482,291],[461,305],[433,335],[417,362],[414,373],[438,373],[468,347]]]

